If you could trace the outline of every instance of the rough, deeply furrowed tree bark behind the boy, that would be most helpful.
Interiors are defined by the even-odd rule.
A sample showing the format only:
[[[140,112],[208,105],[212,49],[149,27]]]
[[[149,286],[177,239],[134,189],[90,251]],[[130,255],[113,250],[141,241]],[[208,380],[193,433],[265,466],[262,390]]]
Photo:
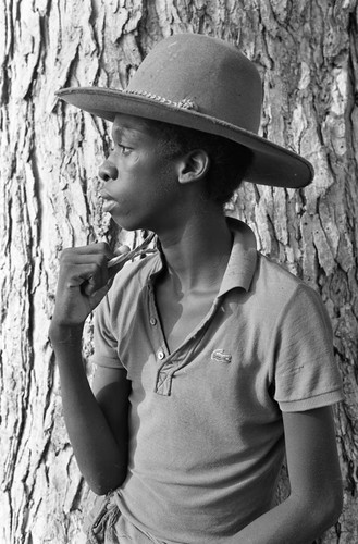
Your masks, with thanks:
[[[345,505],[321,542],[358,542],[357,17],[355,0],[1,2],[2,543],[83,542],[88,491],[63,425],[47,331],[60,250],[119,234],[96,201],[108,126],[53,92],[124,86],[156,41],[182,32],[225,38],[256,61],[261,134],[316,168],[306,190],[246,184],[231,212],[250,224],[263,252],[319,290],[330,312],[346,395],[336,409]],[[89,322],[85,357],[90,351]]]

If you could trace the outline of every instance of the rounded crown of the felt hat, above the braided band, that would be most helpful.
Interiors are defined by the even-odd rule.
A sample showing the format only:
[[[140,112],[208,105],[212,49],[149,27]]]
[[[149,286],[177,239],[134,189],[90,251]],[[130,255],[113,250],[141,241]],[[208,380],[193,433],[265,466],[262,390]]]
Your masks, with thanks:
[[[160,41],[132,77],[127,91],[180,103],[202,114],[258,132],[259,73],[235,47],[208,36],[180,34]]]

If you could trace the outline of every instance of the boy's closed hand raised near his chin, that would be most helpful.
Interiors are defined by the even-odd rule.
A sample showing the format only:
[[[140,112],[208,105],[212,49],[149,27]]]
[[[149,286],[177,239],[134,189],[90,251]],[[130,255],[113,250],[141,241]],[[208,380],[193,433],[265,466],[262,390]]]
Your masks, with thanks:
[[[128,248],[122,246],[121,252]],[[123,267],[108,269],[113,257],[108,244],[64,249],[51,330],[83,326],[86,318],[108,293],[115,273]]]

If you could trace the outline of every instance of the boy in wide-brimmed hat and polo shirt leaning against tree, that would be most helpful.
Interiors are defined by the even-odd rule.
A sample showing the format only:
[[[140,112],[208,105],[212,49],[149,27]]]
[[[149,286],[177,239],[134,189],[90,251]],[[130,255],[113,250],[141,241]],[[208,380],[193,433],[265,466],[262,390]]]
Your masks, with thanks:
[[[213,38],[161,41],[126,90],[59,96],[113,122],[103,208],[158,239],[121,271],[106,244],[61,258],[50,338],[64,417],[106,495],[88,542],[311,543],[342,508],[330,323],[223,213],[244,175],[303,187],[310,164],[257,136],[258,73]],[[91,391],[81,342],[95,308]],[[291,495],[275,505],[284,452]]]

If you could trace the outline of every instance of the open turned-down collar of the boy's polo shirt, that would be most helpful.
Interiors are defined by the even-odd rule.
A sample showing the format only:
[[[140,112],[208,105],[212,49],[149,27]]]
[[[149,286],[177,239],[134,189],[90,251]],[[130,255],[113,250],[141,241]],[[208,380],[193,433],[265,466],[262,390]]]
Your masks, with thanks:
[[[221,283],[218,297],[235,287],[249,290],[257,263],[257,248],[255,234],[249,226],[234,218],[226,218],[227,225],[233,235],[233,246],[227,267]],[[150,281],[153,281],[163,269],[163,254],[157,238],[158,254],[152,263]]]

